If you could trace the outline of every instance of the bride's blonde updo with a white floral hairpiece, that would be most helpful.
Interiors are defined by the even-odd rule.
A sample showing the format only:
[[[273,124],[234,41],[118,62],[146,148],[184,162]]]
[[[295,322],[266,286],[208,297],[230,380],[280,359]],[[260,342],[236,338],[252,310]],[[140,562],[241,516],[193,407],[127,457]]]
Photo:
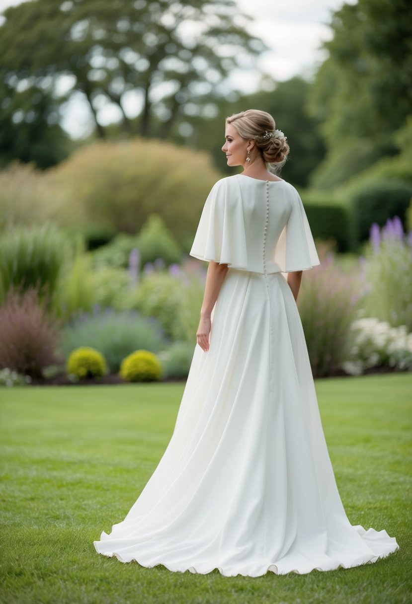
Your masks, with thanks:
[[[263,161],[271,164],[269,169],[272,169],[272,172],[285,164],[289,153],[288,142],[283,132],[276,130],[275,120],[266,111],[241,111],[226,118],[226,123],[234,126],[242,138],[255,141]]]

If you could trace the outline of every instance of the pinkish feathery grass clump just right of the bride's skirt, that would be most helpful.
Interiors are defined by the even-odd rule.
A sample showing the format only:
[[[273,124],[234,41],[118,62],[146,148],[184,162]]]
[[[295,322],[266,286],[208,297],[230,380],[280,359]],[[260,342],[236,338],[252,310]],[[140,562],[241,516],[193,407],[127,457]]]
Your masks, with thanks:
[[[346,274],[334,262],[332,252],[318,247],[320,266],[304,275],[298,295],[307,350],[314,377],[332,375],[346,360],[350,348],[350,324],[359,303],[355,275]]]

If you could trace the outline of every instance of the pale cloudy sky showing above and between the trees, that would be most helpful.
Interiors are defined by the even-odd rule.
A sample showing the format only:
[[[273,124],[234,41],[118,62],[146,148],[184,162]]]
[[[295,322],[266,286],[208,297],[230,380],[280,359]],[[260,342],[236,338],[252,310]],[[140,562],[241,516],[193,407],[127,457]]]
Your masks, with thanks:
[[[0,13],[22,0],[0,0]],[[108,0],[111,1],[111,0]],[[344,4],[344,0],[236,0],[239,10],[249,14],[253,21],[249,33],[260,37],[269,47],[259,59],[260,72],[266,72],[275,80],[288,80],[295,75],[310,78],[317,66],[326,58],[321,50],[322,42],[330,40],[330,14]],[[346,0],[355,4],[356,0]],[[234,72],[231,85],[243,92],[253,92],[260,79],[260,72]],[[79,93],[80,94],[80,93]],[[136,106],[133,96],[130,106]],[[120,110],[107,106],[101,108],[102,123],[116,121]],[[88,134],[91,127],[85,102],[80,97],[69,103],[63,114],[62,126],[72,137]]]

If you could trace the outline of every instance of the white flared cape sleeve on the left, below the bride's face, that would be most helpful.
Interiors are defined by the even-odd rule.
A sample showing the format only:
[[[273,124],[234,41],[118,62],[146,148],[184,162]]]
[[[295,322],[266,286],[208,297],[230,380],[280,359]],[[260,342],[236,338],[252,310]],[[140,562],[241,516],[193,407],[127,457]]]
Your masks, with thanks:
[[[229,194],[223,178],[213,185],[205,201],[189,254],[199,260],[246,269],[245,222],[242,204],[236,194]]]

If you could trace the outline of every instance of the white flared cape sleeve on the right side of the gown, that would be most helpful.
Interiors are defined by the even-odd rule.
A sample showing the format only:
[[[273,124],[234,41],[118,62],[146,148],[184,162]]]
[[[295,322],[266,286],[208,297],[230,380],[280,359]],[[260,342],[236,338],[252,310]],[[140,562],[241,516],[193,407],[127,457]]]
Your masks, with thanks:
[[[306,271],[320,265],[302,200],[297,190],[292,190],[292,210],[280,233],[274,253],[274,262],[280,266],[282,272]]]

